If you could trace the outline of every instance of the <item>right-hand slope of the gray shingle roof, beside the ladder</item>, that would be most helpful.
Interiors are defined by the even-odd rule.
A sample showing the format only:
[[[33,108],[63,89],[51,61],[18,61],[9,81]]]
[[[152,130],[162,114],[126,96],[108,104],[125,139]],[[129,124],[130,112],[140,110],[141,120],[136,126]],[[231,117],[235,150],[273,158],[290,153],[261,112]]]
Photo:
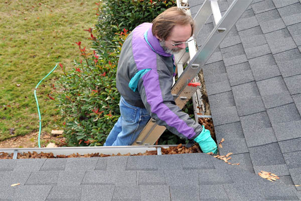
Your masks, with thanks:
[[[189,3],[196,9],[203,2]],[[225,139],[220,153],[240,155],[243,169],[276,172],[290,185],[301,182],[300,16],[301,1],[253,1],[217,48],[221,57],[203,69],[216,137]],[[198,46],[211,30],[201,31]],[[221,76],[219,87],[211,77]]]

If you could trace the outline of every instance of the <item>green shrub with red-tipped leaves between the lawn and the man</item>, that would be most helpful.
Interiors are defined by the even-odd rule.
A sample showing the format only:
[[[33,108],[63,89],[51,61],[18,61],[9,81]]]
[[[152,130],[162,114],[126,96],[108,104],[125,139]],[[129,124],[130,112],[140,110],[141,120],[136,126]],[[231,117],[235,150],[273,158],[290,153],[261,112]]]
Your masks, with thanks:
[[[119,46],[105,55],[88,52],[78,42],[83,61],[74,61],[75,68],[69,73],[60,64],[64,74],[57,82],[61,89],[57,99],[65,118],[64,135],[68,146],[102,145],[119,118],[116,63],[126,36],[126,33],[115,35],[113,41],[118,41]]]

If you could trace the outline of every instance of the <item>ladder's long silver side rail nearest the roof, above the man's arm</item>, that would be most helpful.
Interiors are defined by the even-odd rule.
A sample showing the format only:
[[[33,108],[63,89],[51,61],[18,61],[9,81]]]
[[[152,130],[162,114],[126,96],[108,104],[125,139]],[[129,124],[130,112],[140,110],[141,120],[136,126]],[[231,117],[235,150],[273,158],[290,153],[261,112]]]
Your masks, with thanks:
[[[224,14],[223,18],[215,26],[209,37],[205,41],[204,45],[199,49],[197,54],[192,58],[189,65],[185,68],[182,75],[172,88],[172,93],[180,96],[180,92],[183,87],[187,85],[187,81],[191,81],[205,65],[207,60],[213,54],[215,49],[225,38],[231,28],[235,25],[239,17],[243,14],[246,8],[251,4],[252,0],[235,0]],[[223,32],[219,33],[218,30],[223,29]]]

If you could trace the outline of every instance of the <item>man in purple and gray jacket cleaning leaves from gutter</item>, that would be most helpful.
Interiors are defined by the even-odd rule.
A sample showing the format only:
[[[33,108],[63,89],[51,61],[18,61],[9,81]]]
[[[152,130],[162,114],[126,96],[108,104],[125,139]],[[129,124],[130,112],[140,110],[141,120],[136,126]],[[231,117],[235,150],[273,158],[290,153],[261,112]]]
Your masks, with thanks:
[[[175,76],[172,54],[186,48],[193,31],[193,19],[174,7],[129,34],[116,75],[121,116],[104,146],[131,145],[152,117],[175,135],[198,142],[203,152],[217,152],[210,132],[182,112],[171,94]]]

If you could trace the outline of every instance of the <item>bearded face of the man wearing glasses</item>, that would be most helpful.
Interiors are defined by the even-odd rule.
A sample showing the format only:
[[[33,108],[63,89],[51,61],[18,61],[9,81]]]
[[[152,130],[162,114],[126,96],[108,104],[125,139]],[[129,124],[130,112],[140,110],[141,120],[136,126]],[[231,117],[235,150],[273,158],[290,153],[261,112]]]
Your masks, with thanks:
[[[191,26],[190,25],[176,25],[167,38],[167,40],[160,40],[161,47],[165,50],[168,54],[175,54],[180,52],[182,49],[186,48],[185,43],[173,46],[173,44],[181,43],[187,41],[191,36]]]

